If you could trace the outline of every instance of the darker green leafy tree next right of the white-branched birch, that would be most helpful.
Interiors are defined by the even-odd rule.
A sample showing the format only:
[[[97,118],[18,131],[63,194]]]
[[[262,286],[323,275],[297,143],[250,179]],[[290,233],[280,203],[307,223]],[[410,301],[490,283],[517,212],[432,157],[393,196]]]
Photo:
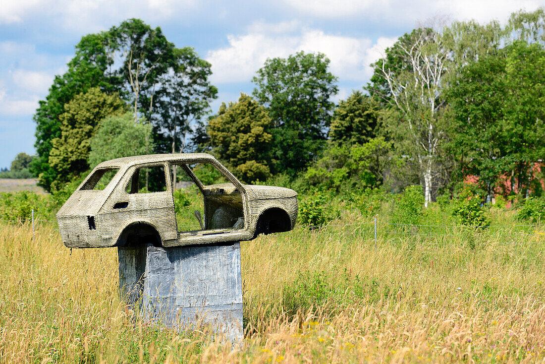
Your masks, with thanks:
[[[504,52],[482,56],[463,68],[448,93],[449,151],[457,160],[456,180],[479,177],[492,193],[505,170],[501,140],[502,105],[507,97]]]

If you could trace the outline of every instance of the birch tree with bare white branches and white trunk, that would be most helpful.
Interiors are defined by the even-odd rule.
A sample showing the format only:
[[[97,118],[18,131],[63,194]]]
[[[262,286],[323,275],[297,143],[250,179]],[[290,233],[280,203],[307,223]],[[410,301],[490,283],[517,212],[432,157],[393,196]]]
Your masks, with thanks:
[[[404,134],[409,157],[417,161],[427,206],[445,138],[441,109],[451,52],[440,31],[429,27],[415,29],[393,47],[397,62],[380,59],[375,72],[384,80],[386,102],[401,115],[396,128]]]

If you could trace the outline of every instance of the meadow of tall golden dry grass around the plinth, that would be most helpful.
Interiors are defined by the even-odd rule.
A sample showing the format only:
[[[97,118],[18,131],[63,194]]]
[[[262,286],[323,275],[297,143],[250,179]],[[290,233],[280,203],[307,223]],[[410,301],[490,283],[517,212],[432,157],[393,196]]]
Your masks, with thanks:
[[[485,228],[432,204],[419,224],[329,202],[328,224],[241,243],[244,343],[177,332],[119,299],[117,250],[67,249],[56,225],[0,225],[0,360],[543,362],[545,229],[488,207]],[[377,240],[374,238],[377,213]],[[189,218],[189,217],[188,217]]]

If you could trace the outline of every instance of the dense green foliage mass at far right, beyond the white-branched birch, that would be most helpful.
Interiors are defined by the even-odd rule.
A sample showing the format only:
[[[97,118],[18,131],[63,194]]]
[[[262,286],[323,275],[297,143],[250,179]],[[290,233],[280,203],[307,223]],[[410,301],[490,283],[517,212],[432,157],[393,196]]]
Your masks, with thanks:
[[[544,73],[545,50],[523,41],[461,72],[450,92],[452,150],[462,161],[459,178],[478,176],[489,194],[506,175],[520,193],[535,189],[534,163],[545,153]]]

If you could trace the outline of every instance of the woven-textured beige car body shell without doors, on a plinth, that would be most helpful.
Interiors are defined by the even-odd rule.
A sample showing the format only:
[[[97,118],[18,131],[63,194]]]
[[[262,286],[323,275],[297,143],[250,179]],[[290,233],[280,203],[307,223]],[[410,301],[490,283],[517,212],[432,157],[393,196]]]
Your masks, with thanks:
[[[193,172],[195,165],[214,168],[227,182],[205,185]],[[197,229],[178,229],[173,198],[177,172],[185,172],[202,194],[204,216],[195,211]],[[150,175],[162,187],[144,188]],[[69,248],[174,247],[289,231],[297,208],[294,190],[243,184],[210,154],[150,154],[97,165],[60,208],[57,220]]]

